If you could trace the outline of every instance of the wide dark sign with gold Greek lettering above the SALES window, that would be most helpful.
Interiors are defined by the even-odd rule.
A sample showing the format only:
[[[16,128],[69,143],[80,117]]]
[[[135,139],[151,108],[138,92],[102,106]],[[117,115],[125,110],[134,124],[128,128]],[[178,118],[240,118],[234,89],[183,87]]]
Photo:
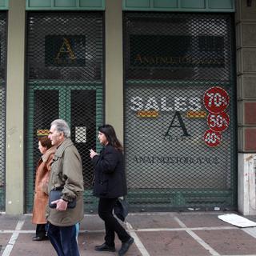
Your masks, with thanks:
[[[192,48],[191,45],[194,45]],[[157,47],[156,47],[157,46]],[[192,35],[131,34],[130,66],[224,66],[224,38]]]

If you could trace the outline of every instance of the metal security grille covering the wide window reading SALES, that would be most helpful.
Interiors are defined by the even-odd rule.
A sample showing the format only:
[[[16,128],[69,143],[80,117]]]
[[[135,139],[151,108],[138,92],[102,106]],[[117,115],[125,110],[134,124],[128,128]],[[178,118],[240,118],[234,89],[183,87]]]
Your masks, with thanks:
[[[124,15],[132,209],[236,207],[233,28],[230,14]]]

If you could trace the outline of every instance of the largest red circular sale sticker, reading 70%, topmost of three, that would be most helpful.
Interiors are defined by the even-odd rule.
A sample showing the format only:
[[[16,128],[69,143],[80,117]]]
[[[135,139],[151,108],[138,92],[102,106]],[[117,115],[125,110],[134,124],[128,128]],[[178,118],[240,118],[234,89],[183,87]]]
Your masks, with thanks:
[[[230,103],[230,96],[226,90],[221,87],[214,86],[206,90],[203,95],[203,102],[210,113],[220,113],[226,110]]]

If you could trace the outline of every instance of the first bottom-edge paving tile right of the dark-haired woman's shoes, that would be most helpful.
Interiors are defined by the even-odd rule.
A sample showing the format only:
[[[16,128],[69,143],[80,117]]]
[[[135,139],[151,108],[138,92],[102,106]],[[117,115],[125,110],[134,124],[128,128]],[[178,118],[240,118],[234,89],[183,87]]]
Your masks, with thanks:
[[[207,256],[186,231],[136,232],[150,256]]]

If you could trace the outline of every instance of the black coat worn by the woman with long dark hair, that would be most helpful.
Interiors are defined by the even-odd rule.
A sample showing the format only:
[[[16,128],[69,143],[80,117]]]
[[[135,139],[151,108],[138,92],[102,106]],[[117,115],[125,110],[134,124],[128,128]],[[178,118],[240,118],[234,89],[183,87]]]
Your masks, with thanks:
[[[94,195],[98,198],[118,198],[127,194],[124,158],[121,151],[106,145],[92,158],[94,165]]]

